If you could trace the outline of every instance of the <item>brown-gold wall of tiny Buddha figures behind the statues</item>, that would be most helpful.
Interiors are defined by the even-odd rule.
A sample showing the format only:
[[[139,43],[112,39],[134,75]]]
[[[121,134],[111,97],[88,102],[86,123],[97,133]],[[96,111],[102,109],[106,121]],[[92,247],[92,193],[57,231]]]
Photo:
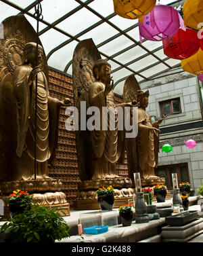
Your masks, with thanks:
[[[63,73],[49,69],[49,94],[60,100],[68,97],[73,105],[72,78]],[[122,103],[122,98],[115,96],[117,103]],[[78,192],[78,162],[76,153],[76,141],[74,131],[68,131],[65,128],[65,107],[60,111],[60,123],[58,132],[58,149],[56,151],[55,166],[50,167],[50,176],[61,179],[63,182],[62,191],[66,194],[67,200],[72,208],[76,194]],[[127,177],[127,158],[125,164],[117,164],[118,175]]]

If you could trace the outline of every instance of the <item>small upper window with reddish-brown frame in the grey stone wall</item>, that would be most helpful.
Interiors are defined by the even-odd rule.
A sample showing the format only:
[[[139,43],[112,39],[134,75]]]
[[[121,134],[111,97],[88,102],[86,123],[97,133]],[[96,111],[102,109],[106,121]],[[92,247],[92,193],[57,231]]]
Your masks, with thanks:
[[[171,100],[164,100],[160,103],[160,111],[162,115],[175,115],[181,113],[180,98],[173,98]]]

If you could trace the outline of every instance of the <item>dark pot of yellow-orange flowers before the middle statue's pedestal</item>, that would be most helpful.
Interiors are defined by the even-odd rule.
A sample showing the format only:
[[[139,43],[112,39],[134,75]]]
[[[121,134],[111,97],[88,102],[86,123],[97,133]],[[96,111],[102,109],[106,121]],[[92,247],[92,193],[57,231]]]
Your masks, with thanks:
[[[114,206],[114,187],[99,187],[97,192],[97,201],[101,210],[112,211]]]

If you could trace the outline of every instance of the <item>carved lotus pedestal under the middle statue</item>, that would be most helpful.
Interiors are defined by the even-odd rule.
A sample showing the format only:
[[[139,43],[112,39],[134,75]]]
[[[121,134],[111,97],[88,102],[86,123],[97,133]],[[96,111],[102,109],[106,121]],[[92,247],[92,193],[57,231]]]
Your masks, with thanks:
[[[74,201],[74,210],[98,210],[97,189],[101,186],[114,187],[114,208],[119,208],[123,204],[129,204],[133,201],[135,191],[132,188],[131,179],[115,178],[115,179],[99,179],[91,181],[83,181],[78,185],[77,200]]]

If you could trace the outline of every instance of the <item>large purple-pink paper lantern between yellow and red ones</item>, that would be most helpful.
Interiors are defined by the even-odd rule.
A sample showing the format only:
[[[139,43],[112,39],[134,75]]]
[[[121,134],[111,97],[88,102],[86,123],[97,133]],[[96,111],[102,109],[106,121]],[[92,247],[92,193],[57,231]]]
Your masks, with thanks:
[[[139,35],[150,41],[161,41],[172,37],[181,29],[185,30],[183,19],[177,10],[169,5],[156,5],[152,12],[139,20]]]

